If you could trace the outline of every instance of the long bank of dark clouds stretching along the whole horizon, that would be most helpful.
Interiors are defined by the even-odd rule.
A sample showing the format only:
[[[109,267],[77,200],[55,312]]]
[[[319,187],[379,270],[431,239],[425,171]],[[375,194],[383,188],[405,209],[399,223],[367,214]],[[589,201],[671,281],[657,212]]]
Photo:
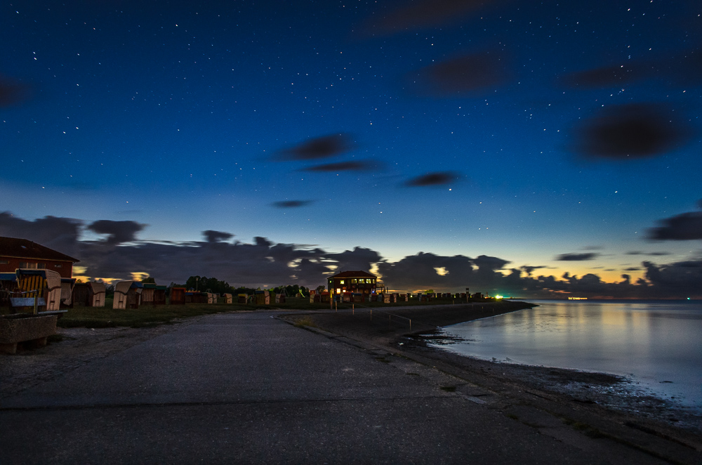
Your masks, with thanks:
[[[127,223],[127,224],[124,224]],[[98,226],[95,226],[95,225]],[[636,282],[622,275],[620,282],[604,282],[593,273],[582,277],[538,275],[543,266],[506,268],[510,261],[496,256],[441,256],[418,252],[388,262],[373,249],[355,247],[335,253],[303,244],[276,243],[254,237],[251,244],[224,242],[230,232],[203,231],[205,241],[150,242],[135,239],[143,225],[133,221],[95,221],[91,226],[111,240],[79,240],[84,221],[47,216],[34,221],[0,214],[0,235],[34,240],[74,256],[97,278],[131,279],[132,273],[147,273],[161,284],[183,283],[191,275],[213,276],[234,286],[258,287],[299,284],[317,287],[326,277],[341,270],[370,270],[378,267],[389,289],[414,291],[435,289],[458,292],[506,294],[522,298],[553,298],[565,295],[614,297],[619,299],[702,298],[702,260],[656,264],[644,261],[644,277]],[[119,246],[117,245],[117,241]],[[56,245],[58,244],[58,245]],[[588,254],[564,254],[585,256]],[[590,254],[597,255],[597,254]],[[635,268],[631,267],[630,271]]]

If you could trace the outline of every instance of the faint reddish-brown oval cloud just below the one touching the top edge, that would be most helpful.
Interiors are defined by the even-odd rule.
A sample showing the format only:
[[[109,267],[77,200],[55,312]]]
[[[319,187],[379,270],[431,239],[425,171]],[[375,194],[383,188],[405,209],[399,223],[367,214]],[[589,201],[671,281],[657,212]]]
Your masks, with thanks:
[[[476,96],[508,80],[501,53],[472,53],[424,67],[406,76],[407,85],[420,95]]]

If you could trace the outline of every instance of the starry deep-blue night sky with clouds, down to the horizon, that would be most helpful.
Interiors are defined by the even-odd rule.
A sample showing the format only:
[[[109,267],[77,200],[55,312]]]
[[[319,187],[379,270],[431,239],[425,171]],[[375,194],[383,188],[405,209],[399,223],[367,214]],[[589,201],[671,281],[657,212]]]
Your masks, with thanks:
[[[702,297],[698,1],[0,5],[0,235],[85,277]]]

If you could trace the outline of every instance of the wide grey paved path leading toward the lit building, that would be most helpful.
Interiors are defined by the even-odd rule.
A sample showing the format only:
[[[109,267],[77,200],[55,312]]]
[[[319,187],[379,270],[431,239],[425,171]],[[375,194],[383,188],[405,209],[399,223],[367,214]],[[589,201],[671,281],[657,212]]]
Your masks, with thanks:
[[[274,315],[211,315],[6,398],[0,463],[658,463]]]

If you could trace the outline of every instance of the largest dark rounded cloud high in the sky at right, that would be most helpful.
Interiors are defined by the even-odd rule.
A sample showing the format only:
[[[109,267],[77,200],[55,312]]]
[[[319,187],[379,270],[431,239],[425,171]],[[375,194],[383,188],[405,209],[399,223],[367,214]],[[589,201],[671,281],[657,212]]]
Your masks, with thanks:
[[[690,134],[689,126],[663,105],[615,105],[576,128],[574,150],[606,159],[653,157],[674,150]]]

